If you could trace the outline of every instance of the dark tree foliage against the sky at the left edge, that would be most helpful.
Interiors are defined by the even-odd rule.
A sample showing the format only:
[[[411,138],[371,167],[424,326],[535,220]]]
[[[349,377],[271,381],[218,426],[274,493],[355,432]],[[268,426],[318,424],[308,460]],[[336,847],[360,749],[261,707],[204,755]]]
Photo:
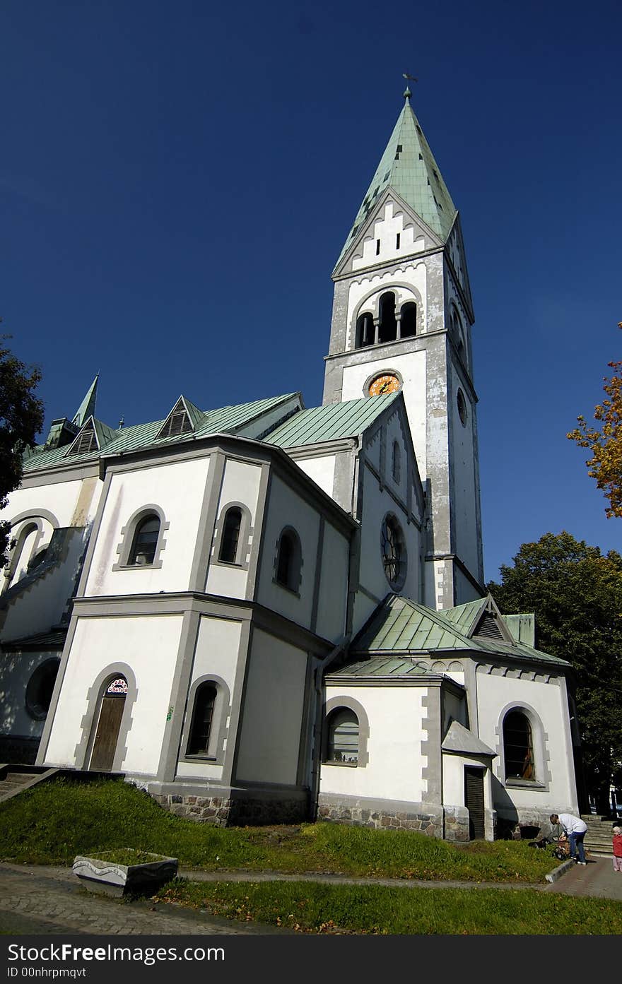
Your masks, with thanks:
[[[18,488],[24,453],[43,426],[43,403],[33,393],[41,374],[16,358],[7,338],[0,336],[0,509]],[[7,560],[10,530],[9,523],[0,523],[0,566]]]

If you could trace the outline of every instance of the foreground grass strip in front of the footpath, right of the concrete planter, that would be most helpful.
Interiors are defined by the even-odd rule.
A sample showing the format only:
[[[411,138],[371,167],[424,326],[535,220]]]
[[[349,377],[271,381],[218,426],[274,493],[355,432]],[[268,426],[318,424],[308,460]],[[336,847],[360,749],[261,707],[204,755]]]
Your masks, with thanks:
[[[300,933],[619,935],[622,903],[533,889],[388,889],[177,880],[158,897]]]

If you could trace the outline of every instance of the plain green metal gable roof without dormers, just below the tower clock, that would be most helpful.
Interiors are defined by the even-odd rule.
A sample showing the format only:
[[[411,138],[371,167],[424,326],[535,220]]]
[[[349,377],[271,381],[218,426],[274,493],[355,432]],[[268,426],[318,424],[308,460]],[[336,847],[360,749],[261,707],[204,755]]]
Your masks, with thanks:
[[[399,394],[364,397],[343,403],[328,403],[295,413],[266,438],[280,448],[295,448],[322,441],[338,441],[361,434]]]

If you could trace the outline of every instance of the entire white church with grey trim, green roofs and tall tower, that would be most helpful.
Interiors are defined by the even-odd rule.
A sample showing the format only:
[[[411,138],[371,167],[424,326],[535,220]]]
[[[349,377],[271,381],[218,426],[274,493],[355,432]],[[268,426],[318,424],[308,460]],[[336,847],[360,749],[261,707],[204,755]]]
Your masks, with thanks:
[[[333,272],[321,406],[292,381],[114,428],[95,378],[26,457],[0,762],[218,825],[578,813],[570,665],[483,586],[465,242],[409,97]]]

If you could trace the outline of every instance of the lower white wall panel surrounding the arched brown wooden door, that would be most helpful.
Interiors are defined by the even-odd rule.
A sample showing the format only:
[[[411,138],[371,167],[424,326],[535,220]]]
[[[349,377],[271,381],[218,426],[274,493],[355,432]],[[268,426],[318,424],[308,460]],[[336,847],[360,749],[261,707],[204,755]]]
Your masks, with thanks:
[[[137,685],[121,769],[156,773],[181,627],[181,615],[78,619],[45,753],[46,765],[83,768],[75,756],[83,738],[88,692],[102,670],[120,661],[132,668]],[[97,715],[94,728],[96,721]]]

